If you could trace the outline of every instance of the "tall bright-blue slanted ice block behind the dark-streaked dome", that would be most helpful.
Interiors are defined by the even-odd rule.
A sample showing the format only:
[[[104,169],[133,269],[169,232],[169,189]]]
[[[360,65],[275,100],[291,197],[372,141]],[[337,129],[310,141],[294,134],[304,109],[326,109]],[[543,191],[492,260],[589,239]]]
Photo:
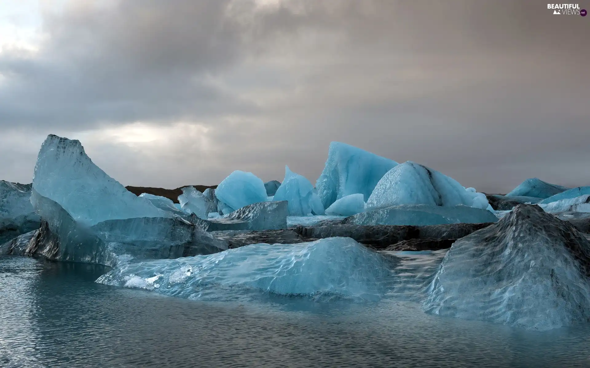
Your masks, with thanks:
[[[363,200],[368,200],[383,175],[397,164],[352,145],[330,143],[326,165],[316,182],[323,207],[355,193],[363,194]]]

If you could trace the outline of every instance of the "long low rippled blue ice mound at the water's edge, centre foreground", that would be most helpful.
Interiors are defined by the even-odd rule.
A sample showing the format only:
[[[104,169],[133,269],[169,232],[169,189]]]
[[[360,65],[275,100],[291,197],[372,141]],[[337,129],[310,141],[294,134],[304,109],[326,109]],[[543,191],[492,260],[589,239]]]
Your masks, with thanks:
[[[299,244],[253,244],[210,256],[124,264],[97,280],[199,300],[234,300],[260,291],[304,297],[379,300],[386,258],[351,238]]]

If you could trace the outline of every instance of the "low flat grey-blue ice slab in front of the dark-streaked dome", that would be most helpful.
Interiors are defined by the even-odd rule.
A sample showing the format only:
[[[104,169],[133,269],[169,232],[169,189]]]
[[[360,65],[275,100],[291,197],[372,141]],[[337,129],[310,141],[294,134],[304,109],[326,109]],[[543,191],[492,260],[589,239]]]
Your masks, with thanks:
[[[498,219],[488,210],[455,205],[442,207],[430,204],[396,205],[347,217],[343,223],[352,225],[438,225],[458,223],[495,223]]]

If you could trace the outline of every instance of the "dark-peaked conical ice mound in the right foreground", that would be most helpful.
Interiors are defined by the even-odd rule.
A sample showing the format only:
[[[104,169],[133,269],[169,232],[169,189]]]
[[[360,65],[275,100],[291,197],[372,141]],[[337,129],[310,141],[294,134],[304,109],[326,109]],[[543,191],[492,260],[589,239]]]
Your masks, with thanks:
[[[550,330],[590,320],[590,243],[566,221],[520,204],[456,241],[423,307],[441,316]]]

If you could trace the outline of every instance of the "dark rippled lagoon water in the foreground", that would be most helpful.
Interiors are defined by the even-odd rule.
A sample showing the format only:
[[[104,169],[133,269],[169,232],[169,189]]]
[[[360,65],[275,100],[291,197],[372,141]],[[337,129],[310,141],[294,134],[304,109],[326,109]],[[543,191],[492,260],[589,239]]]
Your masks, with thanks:
[[[0,367],[588,367],[590,324],[545,332],[414,301],[212,302],[94,283],[109,268],[0,257]]]

